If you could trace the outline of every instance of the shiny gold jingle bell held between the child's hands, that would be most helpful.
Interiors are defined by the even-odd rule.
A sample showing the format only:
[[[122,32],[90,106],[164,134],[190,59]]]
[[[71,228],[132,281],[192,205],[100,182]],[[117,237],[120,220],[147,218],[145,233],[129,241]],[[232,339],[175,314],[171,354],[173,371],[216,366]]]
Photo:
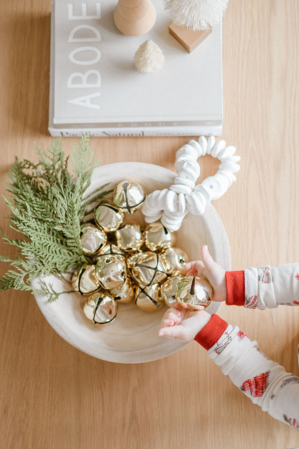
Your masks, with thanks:
[[[212,297],[213,289],[206,278],[186,276],[177,283],[175,299],[181,307],[201,310],[209,305]]]

